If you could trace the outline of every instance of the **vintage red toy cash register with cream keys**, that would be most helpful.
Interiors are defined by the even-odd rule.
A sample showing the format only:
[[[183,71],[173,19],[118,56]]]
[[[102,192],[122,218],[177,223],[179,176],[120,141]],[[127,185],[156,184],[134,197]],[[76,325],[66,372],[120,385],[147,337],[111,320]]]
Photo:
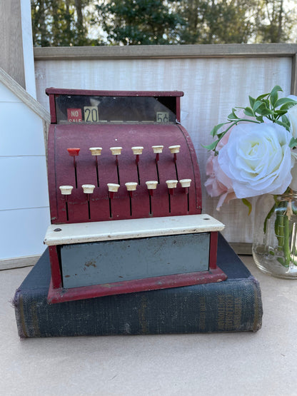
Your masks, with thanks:
[[[225,280],[183,93],[46,93],[49,303]]]

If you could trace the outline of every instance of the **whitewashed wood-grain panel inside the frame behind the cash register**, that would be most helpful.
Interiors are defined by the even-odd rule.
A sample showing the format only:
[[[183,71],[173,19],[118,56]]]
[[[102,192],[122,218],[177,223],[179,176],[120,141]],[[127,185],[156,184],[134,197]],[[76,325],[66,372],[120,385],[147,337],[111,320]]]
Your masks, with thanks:
[[[60,49],[60,54],[62,51]],[[225,121],[233,106],[248,105],[248,95],[255,97],[269,92],[276,84],[283,88],[285,95],[290,94],[292,57],[171,58],[37,60],[37,99],[49,108],[44,91],[51,86],[183,91],[182,124],[196,147],[204,183],[208,153],[201,144],[211,143],[209,132],[213,126]],[[217,199],[209,198],[203,188],[203,211],[226,224],[224,235],[229,242],[251,243],[253,213],[248,216],[246,206],[240,200],[224,205],[220,212],[216,211],[216,203]]]

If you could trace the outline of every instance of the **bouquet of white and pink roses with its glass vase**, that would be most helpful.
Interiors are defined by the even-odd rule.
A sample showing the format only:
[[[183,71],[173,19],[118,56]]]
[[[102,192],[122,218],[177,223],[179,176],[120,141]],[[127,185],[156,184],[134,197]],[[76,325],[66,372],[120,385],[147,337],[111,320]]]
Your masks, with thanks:
[[[250,106],[233,108],[228,121],[213,128],[215,140],[204,146],[211,151],[205,186],[211,197],[219,197],[218,210],[241,198],[251,213],[248,198],[261,196],[253,258],[263,272],[297,278],[297,97],[278,98],[280,91],[275,86],[249,96]]]

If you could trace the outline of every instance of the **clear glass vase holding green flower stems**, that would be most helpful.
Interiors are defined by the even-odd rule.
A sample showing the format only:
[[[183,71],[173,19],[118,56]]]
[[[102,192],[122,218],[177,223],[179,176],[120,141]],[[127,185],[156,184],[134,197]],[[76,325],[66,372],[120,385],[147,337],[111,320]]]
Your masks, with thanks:
[[[253,234],[253,259],[263,272],[297,279],[297,193],[258,198]]]

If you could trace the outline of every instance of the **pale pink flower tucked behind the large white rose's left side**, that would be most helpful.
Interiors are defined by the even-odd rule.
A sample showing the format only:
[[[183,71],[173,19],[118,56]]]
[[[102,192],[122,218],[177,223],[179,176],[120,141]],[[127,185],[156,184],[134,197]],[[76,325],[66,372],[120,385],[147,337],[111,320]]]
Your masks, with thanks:
[[[232,128],[231,128],[232,129]],[[231,133],[231,129],[226,133],[225,136],[218,143],[217,150],[220,151],[223,146],[228,142],[228,138]],[[213,151],[211,151],[211,155],[206,161],[206,176],[208,179],[204,186],[206,187],[206,191],[211,197],[218,197],[218,205],[216,206],[217,210],[220,210],[221,205],[229,200],[235,199],[236,195],[233,191],[232,181],[225,173],[221,170],[221,167],[218,164],[218,156],[215,156]]]

